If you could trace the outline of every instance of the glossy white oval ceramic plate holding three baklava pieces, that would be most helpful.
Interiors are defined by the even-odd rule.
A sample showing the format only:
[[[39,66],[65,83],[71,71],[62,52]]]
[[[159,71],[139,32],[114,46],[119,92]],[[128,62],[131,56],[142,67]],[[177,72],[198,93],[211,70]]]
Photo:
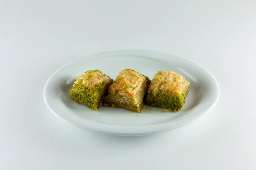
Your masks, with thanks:
[[[111,107],[93,111],[69,99],[69,89],[85,71],[99,69],[115,79],[125,68],[150,79],[159,70],[175,71],[186,77],[191,84],[183,109],[178,113],[163,112],[161,108],[145,105],[141,113]],[[158,133],[186,125],[209,112],[218,97],[218,82],[201,65],[183,57],[147,50],[108,51],[75,60],[55,71],[44,87],[45,103],[56,116],[99,133],[124,136]]]

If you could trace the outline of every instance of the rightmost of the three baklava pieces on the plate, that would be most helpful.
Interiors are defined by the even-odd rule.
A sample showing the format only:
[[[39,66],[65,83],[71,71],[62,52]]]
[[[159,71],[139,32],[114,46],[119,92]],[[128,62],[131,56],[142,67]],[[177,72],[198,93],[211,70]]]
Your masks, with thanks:
[[[174,71],[158,71],[149,88],[148,105],[179,111],[189,92],[189,81]]]

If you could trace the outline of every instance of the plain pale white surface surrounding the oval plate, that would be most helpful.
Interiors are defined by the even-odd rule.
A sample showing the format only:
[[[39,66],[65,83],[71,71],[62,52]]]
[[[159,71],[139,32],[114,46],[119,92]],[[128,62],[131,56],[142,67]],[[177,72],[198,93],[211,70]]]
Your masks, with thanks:
[[[0,169],[256,169],[255,1],[1,1]],[[49,76],[99,51],[192,59],[221,89],[196,122],[151,136],[81,130],[44,104]]]

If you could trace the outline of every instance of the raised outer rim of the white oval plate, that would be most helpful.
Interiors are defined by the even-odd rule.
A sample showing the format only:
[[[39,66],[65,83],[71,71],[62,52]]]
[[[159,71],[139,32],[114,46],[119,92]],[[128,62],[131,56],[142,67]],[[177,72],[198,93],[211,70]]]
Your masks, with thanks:
[[[161,53],[161,54],[165,54],[165,55],[169,55],[169,56],[178,57],[178,58],[182,58],[182,59],[188,60],[189,62],[192,62],[195,65],[197,65],[198,67],[202,68],[204,71],[207,71],[207,73],[211,76],[212,80],[214,80],[214,85],[215,85],[215,88],[216,88],[217,96],[215,97],[215,100],[214,100],[214,102],[212,102],[211,105],[209,105],[207,108],[203,109],[202,111],[200,111],[198,113],[195,113],[194,115],[185,117],[183,119],[175,120],[175,121],[172,121],[172,122],[167,122],[167,123],[164,123],[164,124],[157,124],[157,125],[122,126],[122,125],[111,125],[111,124],[104,124],[104,123],[100,123],[100,122],[93,122],[93,121],[90,121],[90,120],[86,120],[86,121],[83,120],[84,123],[80,122],[78,124],[78,122],[71,122],[70,120],[65,119],[63,116],[60,116],[58,113],[55,113],[55,111],[52,110],[52,108],[49,106],[49,104],[47,102],[47,99],[46,99],[46,89],[47,89],[47,85],[49,84],[51,78],[59,70],[61,70],[62,68],[65,68],[67,65],[70,65],[70,64],[72,64],[74,62],[77,62],[79,60],[82,60],[82,59],[90,59],[92,57],[100,57],[101,55],[104,56],[104,55],[107,55],[107,54],[118,53],[118,52],[133,52],[133,53],[136,53],[136,52],[146,52],[146,53],[151,52],[151,53]],[[150,57],[150,56],[145,56],[145,57]],[[150,58],[154,59],[154,57],[150,57]],[[148,135],[148,134],[160,133],[160,132],[163,132],[163,131],[172,130],[172,129],[178,128],[178,127],[172,128],[172,126],[177,124],[178,122],[182,122],[185,119],[186,120],[191,119],[191,121],[189,121],[189,123],[191,123],[191,122],[193,122],[193,120],[201,117],[204,114],[209,113],[209,111],[211,111],[212,108],[214,108],[215,105],[218,102],[218,99],[219,99],[219,96],[220,96],[220,88],[219,88],[219,85],[218,85],[218,81],[212,75],[212,73],[210,71],[208,71],[206,68],[204,68],[202,65],[198,64],[197,62],[195,62],[195,61],[193,61],[191,59],[188,59],[188,58],[182,57],[182,56],[177,56],[177,55],[174,55],[174,54],[169,54],[169,53],[162,52],[162,51],[143,50],[143,49],[123,49],[123,50],[111,50],[111,51],[103,51],[103,52],[99,52],[99,53],[94,53],[94,54],[86,55],[85,57],[81,57],[79,59],[74,59],[74,60],[72,60],[70,62],[67,62],[65,65],[61,66],[56,71],[54,71],[54,73],[52,73],[52,75],[47,79],[47,82],[44,85],[43,95],[44,95],[44,102],[47,105],[47,108],[52,113],[54,113],[55,116],[65,120],[66,122],[68,122],[68,123],[70,123],[72,125],[76,125],[78,127],[86,128],[88,130],[93,130],[95,132],[109,134],[109,135],[138,136],[138,135]],[[184,125],[186,125],[186,124],[183,124],[181,126],[184,126]]]

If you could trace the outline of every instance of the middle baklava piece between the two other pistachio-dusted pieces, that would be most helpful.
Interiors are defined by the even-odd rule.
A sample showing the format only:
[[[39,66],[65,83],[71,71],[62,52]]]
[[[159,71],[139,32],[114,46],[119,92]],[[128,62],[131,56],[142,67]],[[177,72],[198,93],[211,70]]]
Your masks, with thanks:
[[[150,80],[138,72],[125,69],[119,72],[106,98],[113,107],[140,112]]]

